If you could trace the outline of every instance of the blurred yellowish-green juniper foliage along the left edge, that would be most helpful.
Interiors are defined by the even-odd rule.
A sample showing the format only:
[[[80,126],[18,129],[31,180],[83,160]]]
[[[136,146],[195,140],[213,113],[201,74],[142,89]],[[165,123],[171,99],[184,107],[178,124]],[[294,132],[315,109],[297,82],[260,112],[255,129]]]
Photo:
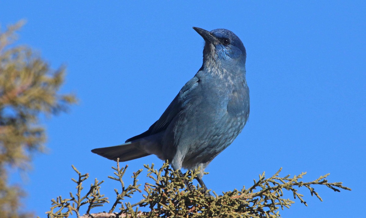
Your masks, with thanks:
[[[27,46],[14,45],[15,32],[24,22],[0,27],[0,217],[30,217],[19,213],[25,193],[8,185],[10,167],[29,169],[34,153],[45,149],[45,128],[39,116],[65,111],[73,95],[60,95],[65,69],[52,70]]]

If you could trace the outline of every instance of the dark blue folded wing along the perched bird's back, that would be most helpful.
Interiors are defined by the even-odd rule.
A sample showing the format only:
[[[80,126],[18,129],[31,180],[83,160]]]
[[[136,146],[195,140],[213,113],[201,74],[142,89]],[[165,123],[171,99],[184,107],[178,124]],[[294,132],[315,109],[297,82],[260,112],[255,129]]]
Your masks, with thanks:
[[[178,95],[173,99],[173,101],[169,104],[168,108],[164,111],[163,115],[150,126],[149,130],[146,132],[136,135],[130,139],[127,139],[126,142],[130,142],[139,138],[146,137],[148,135],[156,134],[160,131],[163,131],[167,128],[169,123],[173,120],[173,118],[184,109],[187,102],[189,101],[192,93],[194,93],[195,87],[197,87],[199,79],[194,76],[191,80],[189,80],[182,89],[180,89]]]

